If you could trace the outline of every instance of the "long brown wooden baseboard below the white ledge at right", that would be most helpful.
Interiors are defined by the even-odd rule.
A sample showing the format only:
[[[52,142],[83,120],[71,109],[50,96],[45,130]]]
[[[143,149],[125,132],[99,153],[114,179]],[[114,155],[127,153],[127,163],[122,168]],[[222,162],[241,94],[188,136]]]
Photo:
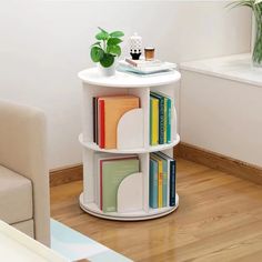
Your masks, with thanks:
[[[181,142],[177,157],[262,184],[262,168]]]

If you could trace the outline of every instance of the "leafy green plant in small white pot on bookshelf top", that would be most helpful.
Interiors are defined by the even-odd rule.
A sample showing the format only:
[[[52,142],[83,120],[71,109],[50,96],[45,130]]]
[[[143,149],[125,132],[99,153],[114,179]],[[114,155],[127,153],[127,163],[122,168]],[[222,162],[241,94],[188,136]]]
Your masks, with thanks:
[[[124,36],[122,31],[107,32],[99,28],[100,32],[95,34],[98,40],[91,46],[90,57],[93,62],[99,63],[103,75],[110,77],[115,73],[115,60],[121,54],[120,43]]]

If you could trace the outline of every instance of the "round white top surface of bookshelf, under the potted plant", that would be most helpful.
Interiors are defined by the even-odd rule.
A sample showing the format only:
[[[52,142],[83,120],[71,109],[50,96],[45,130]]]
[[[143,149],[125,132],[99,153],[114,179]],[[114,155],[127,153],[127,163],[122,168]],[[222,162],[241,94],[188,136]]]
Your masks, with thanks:
[[[85,69],[79,72],[78,75],[84,83],[113,88],[143,88],[164,85],[177,82],[181,78],[180,72],[175,70],[168,73],[144,77],[137,77],[117,71],[112,77],[103,77],[99,72],[98,68]]]

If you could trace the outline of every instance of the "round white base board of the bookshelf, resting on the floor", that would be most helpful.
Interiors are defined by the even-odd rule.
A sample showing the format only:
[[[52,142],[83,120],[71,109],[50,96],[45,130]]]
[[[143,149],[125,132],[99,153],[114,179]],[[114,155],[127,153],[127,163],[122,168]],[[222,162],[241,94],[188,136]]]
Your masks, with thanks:
[[[175,206],[161,208],[161,209],[149,209],[149,212],[143,210],[128,213],[118,213],[110,212],[103,213],[95,203],[83,203],[83,193],[79,196],[80,208],[94,216],[108,220],[117,220],[117,221],[141,221],[141,220],[150,220],[164,216],[167,214],[172,213],[179,206],[179,195],[175,194]]]

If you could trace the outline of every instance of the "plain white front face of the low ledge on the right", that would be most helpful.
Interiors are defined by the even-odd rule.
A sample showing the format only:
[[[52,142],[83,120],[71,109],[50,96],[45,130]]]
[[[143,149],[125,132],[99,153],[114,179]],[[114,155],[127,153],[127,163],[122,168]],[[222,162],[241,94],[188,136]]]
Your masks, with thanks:
[[[262,88],[187,70],[182,77],[181,140],[262,167]]]

